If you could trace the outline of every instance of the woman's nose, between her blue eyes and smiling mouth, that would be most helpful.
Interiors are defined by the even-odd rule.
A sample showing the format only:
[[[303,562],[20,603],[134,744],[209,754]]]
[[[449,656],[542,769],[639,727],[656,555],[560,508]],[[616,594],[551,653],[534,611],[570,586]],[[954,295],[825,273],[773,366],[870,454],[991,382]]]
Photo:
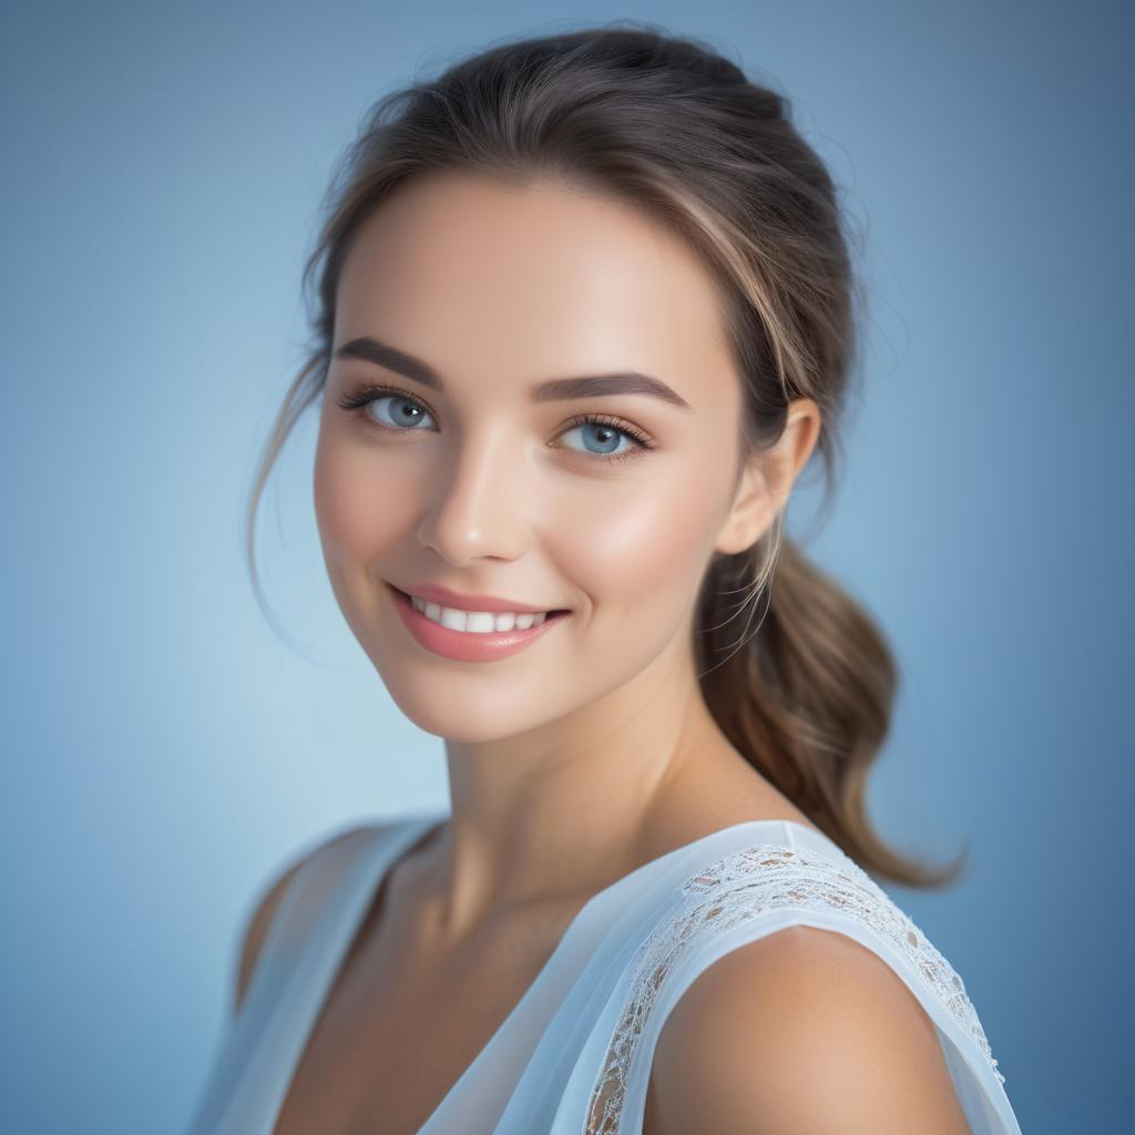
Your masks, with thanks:
[[[524,460],[503,420],[454,443],[426,489],[419,540],[455,565],[520,556],[529,538],[523,501],[532,488]]]

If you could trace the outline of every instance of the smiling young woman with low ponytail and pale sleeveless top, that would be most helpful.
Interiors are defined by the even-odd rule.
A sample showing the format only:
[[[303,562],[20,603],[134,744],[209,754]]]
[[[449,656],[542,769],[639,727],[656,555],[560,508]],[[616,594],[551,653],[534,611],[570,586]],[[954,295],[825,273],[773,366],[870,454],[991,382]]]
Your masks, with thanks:
[[[251,512],[318,401],[331,586],[451,807],[267,890],[194,1135],[1018,1132],[868,874],[957,875],[865,814],[891,656],[783,535],[858,343],[784,100],[654,31],[497,47],[377,106],[317,269]]]

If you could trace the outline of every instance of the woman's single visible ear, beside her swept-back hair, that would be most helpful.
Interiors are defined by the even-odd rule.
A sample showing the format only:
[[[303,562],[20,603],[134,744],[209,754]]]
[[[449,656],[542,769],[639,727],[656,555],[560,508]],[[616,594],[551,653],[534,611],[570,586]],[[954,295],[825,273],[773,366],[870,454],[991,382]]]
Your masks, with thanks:
[[[793,398],[774,445],[751,454],[741,472],[733,504],[715,545],[733,555],[751,548],[784,507],[796,478],[819,438],[819,407],[812,398]]]

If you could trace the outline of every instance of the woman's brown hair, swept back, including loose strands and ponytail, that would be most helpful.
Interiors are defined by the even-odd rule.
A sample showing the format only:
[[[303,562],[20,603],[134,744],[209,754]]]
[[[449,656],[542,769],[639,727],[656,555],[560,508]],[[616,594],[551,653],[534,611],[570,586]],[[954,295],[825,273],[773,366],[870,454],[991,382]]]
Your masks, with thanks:
[[[352,235],[396,186],[434,170],[519,184],[554,178],[633,203],[683,236],[718,288],[743,384],[738,469],[753,447],[777,439],[791,398],[812,398],[831,504],[863,301],[832,179],[782,95],[700,41],[617,24],[505,42],[370,109],[325,200],[303,272],[309,306],[319,274],[309,310],[314,344],[249,502],[247,556],[262,609],[258,502],[326,382]],[[731,599],[738,591],[740,604]],[[739,639],[731,623],[762,600],[756,628],[749,632],[750,611]],[[957,878],[960,860],[931,868],[906,859],[867,819],[866,779],[890,726],[894,662],[859,604],[784,537],[783,513],[754,548],[713,560],[696,625],[703,693],[734,748],[866,871],[914,886]]]

